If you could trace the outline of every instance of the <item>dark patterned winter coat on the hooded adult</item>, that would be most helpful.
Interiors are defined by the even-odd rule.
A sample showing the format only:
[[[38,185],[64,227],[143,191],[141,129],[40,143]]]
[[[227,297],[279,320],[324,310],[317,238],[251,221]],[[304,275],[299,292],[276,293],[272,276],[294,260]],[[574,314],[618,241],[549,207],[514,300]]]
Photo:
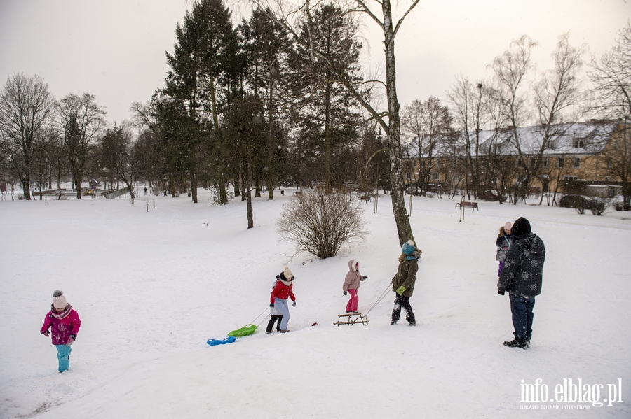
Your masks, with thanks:
[[[541,294],[544,261],[543,240],[531,232],[515,236],[513,245],[506,253],[502,274],[497,283],[498,292],[503,295],[508,291],[524,297]]]

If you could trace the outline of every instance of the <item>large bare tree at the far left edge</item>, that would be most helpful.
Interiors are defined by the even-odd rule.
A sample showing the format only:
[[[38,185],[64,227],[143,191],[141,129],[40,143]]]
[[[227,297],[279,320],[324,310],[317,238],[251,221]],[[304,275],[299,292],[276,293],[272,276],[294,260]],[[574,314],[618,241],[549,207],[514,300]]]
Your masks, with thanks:
[[[31,199],[33,153],[46,137],[54,104],[39,76],[10,76],[0,92],[0,148],[20,178],[25,199]]]

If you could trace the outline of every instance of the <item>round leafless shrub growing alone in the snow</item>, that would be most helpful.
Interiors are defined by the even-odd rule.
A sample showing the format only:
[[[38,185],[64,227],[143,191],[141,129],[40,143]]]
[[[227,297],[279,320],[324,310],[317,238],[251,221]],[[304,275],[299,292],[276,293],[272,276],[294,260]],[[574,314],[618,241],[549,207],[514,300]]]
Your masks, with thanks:
[[[345,194],[303,191],[283,208],[276,231],[293,241],[298,250],[326,259],[344,245],[361,241],[367,230],[358,201]]]

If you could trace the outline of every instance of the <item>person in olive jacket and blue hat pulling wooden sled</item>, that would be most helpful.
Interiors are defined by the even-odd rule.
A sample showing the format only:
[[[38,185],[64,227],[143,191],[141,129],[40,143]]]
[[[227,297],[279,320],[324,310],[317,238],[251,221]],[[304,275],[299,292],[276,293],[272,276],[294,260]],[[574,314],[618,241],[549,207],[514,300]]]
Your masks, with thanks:
[[[416,326],[416,319],[412,312],[412,306],[409,305],[409,297],[414,292],[414,283],[416,283],[416,272],[419,271],[419,257],[421,257],[421,249],[416,248],[414,241],[408,240],[401,246],[401,255],[399,256],[399,267],[394,278],[392,278],[392,290],[395,294],[395,305],[392,310],[391,325],[396,325],[401,315],[401,307],[405,308],[405,320],[410,326]]]

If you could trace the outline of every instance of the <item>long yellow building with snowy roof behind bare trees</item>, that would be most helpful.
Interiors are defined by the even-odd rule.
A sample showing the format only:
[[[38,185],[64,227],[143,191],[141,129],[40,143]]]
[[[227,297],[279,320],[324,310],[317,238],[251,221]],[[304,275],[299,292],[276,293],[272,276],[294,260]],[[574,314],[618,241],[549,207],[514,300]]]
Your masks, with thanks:
[[[445,190],[463,190],[478,176],[482,189],[508,193],[531,173],[529,190],[535,193],[562,192],[568,181],[578,180],[599,185],[590,194],[611,195],[612,188],[616,192],[620,188],[616,185],[620,178],[611,171],[613,148],[620,139],[624,139],[622,123],[616,120],[567,122],[548,130],[541,126],[485,130],[470,134],[468,141],[461,135],[440,150],[429,179]],[[416,173],[420,166],[417,160]],[[607,183],[616,186],[604,187]]]

